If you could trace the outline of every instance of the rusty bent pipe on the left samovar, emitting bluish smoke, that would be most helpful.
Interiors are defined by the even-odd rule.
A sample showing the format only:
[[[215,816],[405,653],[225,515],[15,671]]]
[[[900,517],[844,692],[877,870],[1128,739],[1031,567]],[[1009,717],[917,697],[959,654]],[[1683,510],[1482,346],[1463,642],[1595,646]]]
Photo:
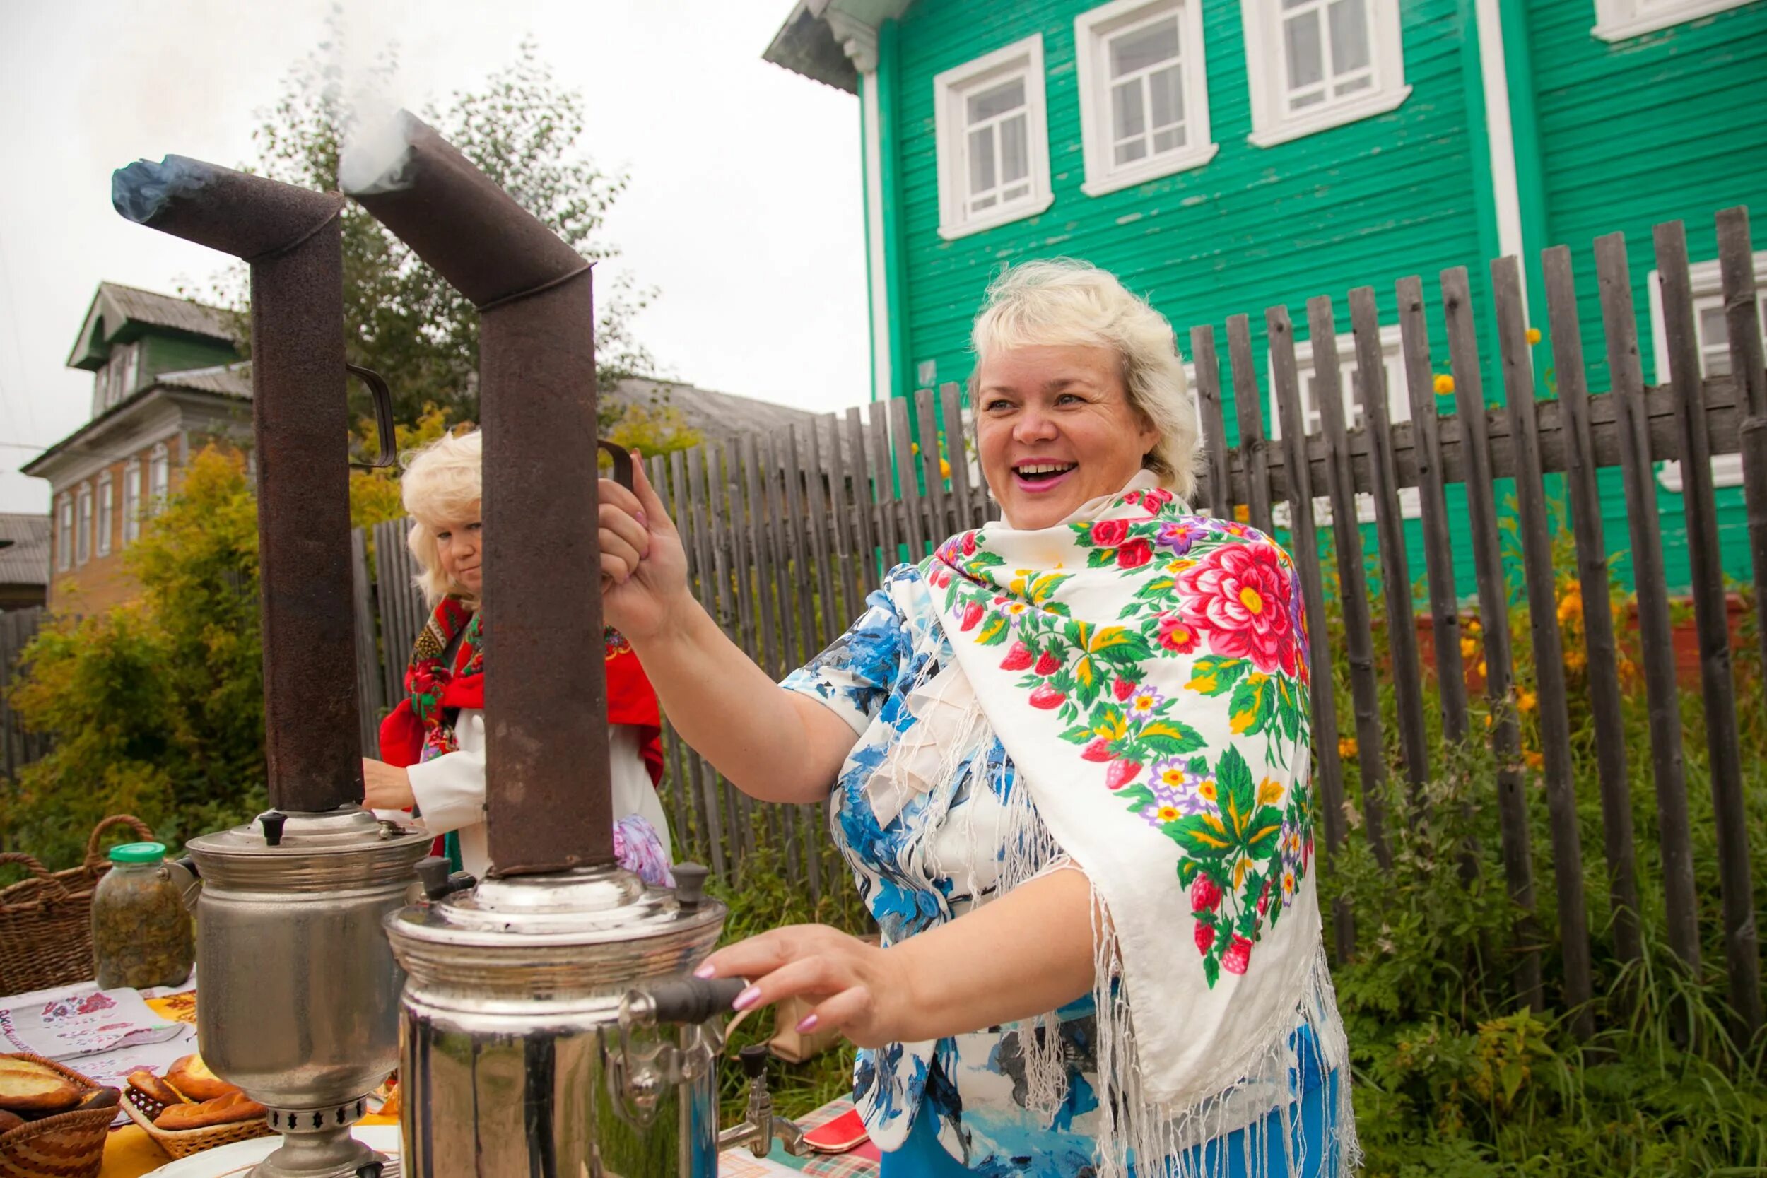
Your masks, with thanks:
[[[129,221],[251,265],[270,805],[315,812],[359,804],[343,196],[166,155],[118,168],[111,203]]]

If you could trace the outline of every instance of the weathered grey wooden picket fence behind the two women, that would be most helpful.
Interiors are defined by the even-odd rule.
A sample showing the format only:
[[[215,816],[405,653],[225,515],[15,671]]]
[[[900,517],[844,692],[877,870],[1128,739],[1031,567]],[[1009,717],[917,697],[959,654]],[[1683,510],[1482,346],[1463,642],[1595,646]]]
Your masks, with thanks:
[[[1756,600],[1767,600],[1767,369],[1756,318],[1748,214],[1732,208],[1718,215],[1719,254],[1732,348],[1732,373],[1700,380],[1695,309],[1687,277],[1687,247],[1680,223],[1657,226],[1656,261],[1663,284],[1663,311],[1673,381],[1643,381],[1627,245],[1620,235],[1596,242],[1596,274],[1604,330],[1608,383],[1590,390],[1583,360],[1583,328],[1566,247],[1543,256],[1546,327],[1557,367],[1557,399],[1537,399],[1530,364],[1528,320],[1523,311],[1518,260],[1491,263],[1497,357],[1479,355],[1479,323],[1470,276],[1465,268],[1440,274],[1445,341],[1431,341],[1424,320],[1424,288],[1417,277],[1396,283],[1403,337],[1410,422],[1389,422],[1385,369],[1373,288],[1350,291],[1359,378],[1355,396],[1362,426],[1346,426],[1338,366],[1334,306],[1327,297],[1306,306],[1308,346],[1313,355],[1315,401],[1320,429],[1304,429],[1295,330],[1286,307],[1270,307],[1265,327],[1270,348],[1270,387],[1262,387],[1253,364],[1249,318],[1226,321],[1226,364],[1221,364],[1214,327],[1189,332],[1196,367],[1196,396],[1203,420],[1205,470],[1198,500],[1217,516],[1240,512],[1253,526],[1274,532],[1274,512],[1288,505],[1283,537],[1302,576],[1311,632],[1315,683],[1331,683],[1341,659],[1352,685],[1355,745],[1385,749],[1382,691],[1394,698],[1399,759],[1408,789],[1385,788],[1384,756],[1357,756],[1359,788],[1345,782],[1338,749],[1339,717],[1332,691],[1315,691],[1315,781],[1322,802],[1327,858],[1346,839],[1345,802],[1361,809],[1362,835],[1376,858],[1391,862],[1392,816],[1384,798],[1417,805],[1431,777],[1424,668],[1414,625],[1412,558],[1401,532],[1399,489],[1415,487],[1421,509],[1424,576],[1442,735],[1468,738],[1468,675],[1461,655],[1461,600],[1454,590],[1449,533],[1449,487],[1460,486],[1472,530],[1477,570],[1477,618],[1484,655],[1484,692],[1493,724],[1488,735],[1497,763],[1497,809],[1502,864],[1514,899],[1513,957],[1516,994],[1539,1008],[1546,1001],[1536,911],[1536,848],[1530,839],[1528,789],[1521,733],[1514,705],[1509,585],[1500,519],[1511,510],[1500,498],[1498,479],[1513,480],[1514,526],[1520,532],[1527,602],[1534,646],[1534,691],[1544,763],[1550,862],[1562,952],[1566,1007],[1592,996],[1592,961],[1583,848],[1580,844],[1569,742],[1569,699],[1564,678],[1562,632],[1551,567],[1553,535],[1546,475],[1562,473],[1576,544],[1583,600],[1583,634],[1590,712],[1596,728],[1596,793],[1603,816],[1603,857],[1613,911],[1613,943],[1622,959],[1642,948],[1638,924],[1638,867],[1627,797],[1627,756],[1649,756],[1656,786],[1656,842],[1661,857],[1668,940],[1675,954],[1698,964],[1702,952],[1698,899],[1693,881],[1693,835],[1687,784],[1682,768],[1680,705],[1665,579],[1661,521],[1654,463],[1682,461],[1691,597],[1700,643],[1700,694],[1705,710],[1705,751],[1710,766],[1712,807],[1723,901],[1723,943],[1730,994],[1739,1030],[1762,1023],[1760,964],[1744,823],[1742,765],[1737,694],[1730,668],[1726,597],[1718,551],[1709,457],[1744,454],[1749,551]],[[1486,323],[1490,330],[1493,323]],[[1456,413],[1438,413],[1435,373],[1454,378]],[[1486,381],[1502,390],[1500,406],[1486,401]],[[1279,442],[1270,440],[1262,406],[1272,403]],[[1233,390],[1237,438],[1228,447],[1223,390]],[[700,602],[724,632],[769,675],[783,678],[808,662],[864,609],[887,569],[921,560],[947,535],[981,526],[990,502],[965,447],[970,422],[956,385],[922,389],[912,404],[885,404],[823,415],[813,427],[749,434],[709,443],[648,461],[650,480],[663,495],[687,549],[689,578]],[[1619,468],[1626,487],[1636,616],[1649,699],[1649,749],[1627,749],[1622,724],[1619,646],[1610,613],[1608,546],[1597,502],[1596,472]],[[1384,616],[1376,616],[1364,570],[1364,528],[1355,496],[1373,496],[1375,553],[1380,569]],[[1345,650],[1334,650],[1327,631],[1327,576],[1315,525],[1315,496],[1331,505],[1331,563],[1336,567],[1336,609]],[[373,562],[368,551],[373,549]],[[373,717],[399,699],[405,657],[426,616],[413,588],[405,547],[405,523],[359,532],[357,616],[364,745],[375,747]],[[373,567],[371,567],[373,565]],[[1403,623],[1392,623],[1392,620]],[[1387,648],[1376,659],[1375,631],[1384,627]],[[1767,645],[1767,638],[1763,638]],[[1767,650],[1762,652],[1767,664]],[[781,758],[793,756],[781,749]],[[827,818],[815,805],[758,805],[732,788],[717,770],[668,733],[664,804],[677,848],[724,874],[763,857],[793,883],[820,895],[843,887],[845,876]],[[1401,814],[1401,818],[1405,818]],[[1339,954],[1354,948],[1348,913],[1334,920]],[[1574,1030],[1589,1033],[1587,1008]]]

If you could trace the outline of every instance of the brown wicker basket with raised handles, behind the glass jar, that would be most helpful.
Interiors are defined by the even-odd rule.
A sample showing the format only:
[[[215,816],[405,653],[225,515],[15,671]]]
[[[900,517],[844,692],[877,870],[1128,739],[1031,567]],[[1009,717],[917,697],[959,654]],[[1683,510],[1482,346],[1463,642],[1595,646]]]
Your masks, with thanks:
[[[110,853],[99,837],[117,825],[133,827],[143,841],[154,837],[140,818],[113,814],[92,828],[87,858],[78,867],[49,872],[30,855],[0,855],[0,864],[23,864],[34,876],[0,892],[0,994],[92,977],[92,888],[110,871]]]

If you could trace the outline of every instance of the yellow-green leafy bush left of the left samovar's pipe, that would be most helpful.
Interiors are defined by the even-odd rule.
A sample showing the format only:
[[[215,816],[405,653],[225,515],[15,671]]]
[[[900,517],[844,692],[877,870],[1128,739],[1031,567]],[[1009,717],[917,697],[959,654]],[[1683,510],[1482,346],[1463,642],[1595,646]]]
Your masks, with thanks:
[[[106,814],[170,842],[265,805],[258,514],[244,457],[205,449],[125,560],[138,600],[46,625],[12,705],[53,736],[0,798],[9,841],[78,862]]]

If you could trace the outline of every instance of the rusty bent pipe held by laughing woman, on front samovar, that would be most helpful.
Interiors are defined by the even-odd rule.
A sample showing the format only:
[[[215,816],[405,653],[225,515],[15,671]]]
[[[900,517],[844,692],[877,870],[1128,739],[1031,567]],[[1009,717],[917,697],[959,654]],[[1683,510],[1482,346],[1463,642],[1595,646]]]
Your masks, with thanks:
[[[345,191],[481,314],[491,874],[608,865],[590,263],[435,129],[401,111],[399,131]]]

